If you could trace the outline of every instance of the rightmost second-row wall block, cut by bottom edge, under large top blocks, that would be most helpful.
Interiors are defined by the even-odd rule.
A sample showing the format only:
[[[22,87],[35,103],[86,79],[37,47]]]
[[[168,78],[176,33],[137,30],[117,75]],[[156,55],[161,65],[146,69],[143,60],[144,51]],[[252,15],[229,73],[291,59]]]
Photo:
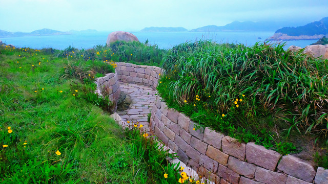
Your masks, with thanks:
[[[287,176],[261,167],[256,167],[255,180],[270,184],[284,184],[287,180]]]

